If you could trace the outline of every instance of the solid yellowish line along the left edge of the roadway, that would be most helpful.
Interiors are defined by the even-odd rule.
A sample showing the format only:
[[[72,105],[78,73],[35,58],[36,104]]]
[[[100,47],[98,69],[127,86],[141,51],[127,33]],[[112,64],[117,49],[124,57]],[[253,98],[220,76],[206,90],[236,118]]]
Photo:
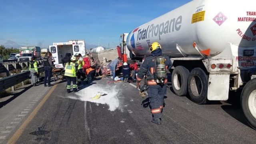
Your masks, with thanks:
[[[7,144],[15,144],[24,131],[24,129],[27,127],[27,125],[31,122],[31,120],[36,116],[37,112],[40,110],[40,108],[44,105],[46,100],[50,97],[54,89],[56,88],[57,84],[52,86],[51,90],[46,94],[46,96],[41,100],[41,102],[36,106],[36,108],[31,112],[31,114],[28,116],[28,118],[24,121],[24,123],[18,128],[18,130],[14,133],[12,138],[7,142]]]

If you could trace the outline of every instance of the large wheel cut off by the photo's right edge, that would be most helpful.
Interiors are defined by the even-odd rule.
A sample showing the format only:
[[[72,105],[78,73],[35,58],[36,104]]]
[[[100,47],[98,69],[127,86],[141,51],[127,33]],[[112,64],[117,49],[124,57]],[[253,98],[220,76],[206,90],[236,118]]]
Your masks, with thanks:
[[[256,130],[256,79],[244,86],[240,102],[246,121]]]

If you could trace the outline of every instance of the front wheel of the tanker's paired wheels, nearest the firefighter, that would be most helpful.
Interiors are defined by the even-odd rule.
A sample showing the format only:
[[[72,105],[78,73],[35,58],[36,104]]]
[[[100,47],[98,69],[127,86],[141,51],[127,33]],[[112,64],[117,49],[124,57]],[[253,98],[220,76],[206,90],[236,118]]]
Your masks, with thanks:
[[[185,96],[188,91],[189,71],[184,66],[177,66],[172,71],[172,88],[177,96]]]

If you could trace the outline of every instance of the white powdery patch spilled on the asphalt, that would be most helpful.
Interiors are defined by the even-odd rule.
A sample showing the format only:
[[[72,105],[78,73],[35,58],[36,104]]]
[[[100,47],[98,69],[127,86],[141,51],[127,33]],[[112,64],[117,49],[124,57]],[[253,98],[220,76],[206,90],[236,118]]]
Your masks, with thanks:
[[[96,105],[98,104],[107,104],[109,106],[110,111],[114,111],[117,108],[120,108],[120,102],[118,100],[118,89],[116,86],[113,85],[100,85],[100,84],[93,84],[76,93],[68,94],[68,98],[81,100],[81,101],[88,101],[94,102]],[[98,92],[102,92],[107,94],[105,96],[100,96],[99,99],[92,99]]]

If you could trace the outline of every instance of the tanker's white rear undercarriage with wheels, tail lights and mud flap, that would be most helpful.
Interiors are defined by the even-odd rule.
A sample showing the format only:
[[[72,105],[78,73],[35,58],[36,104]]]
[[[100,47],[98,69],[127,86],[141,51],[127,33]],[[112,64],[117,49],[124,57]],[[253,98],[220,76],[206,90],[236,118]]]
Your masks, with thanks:
[[[241,56],[239,51],[244,50],[248,48],[228,43],[222,52],[211,58],[201,53],[201,56],[182,54],[183,58],[171,58],[175,94],[185,96],[188,93],[193,102],[206,104],[210,100],[228,100],[230,91],[242,90],[242,110],[247,122],[256,129],[256,76],[252,75],[255,69],[242,67],[237,60]]]

